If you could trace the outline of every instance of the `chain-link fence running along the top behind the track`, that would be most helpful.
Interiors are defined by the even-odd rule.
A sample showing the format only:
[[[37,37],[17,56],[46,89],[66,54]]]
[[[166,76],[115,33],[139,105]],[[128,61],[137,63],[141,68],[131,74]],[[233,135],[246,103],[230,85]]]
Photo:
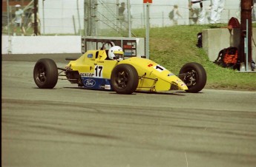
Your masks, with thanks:
[[[123,18],[119,15],[119,7],[125,3]],[[100,35],[100,36],[128,36],[128,27],[132,29],[145,28],[145,4],[142,1],[131,2],[119,0],[39,0],[39,30],[42,35]],[[204,1],[206,9],[206,24],[209,24],[210,1]],[[151,27],[168,27],[174,25],[168,18],[168,13],[174,4],[151,4]],[[6,12],[2,12],[2,34],[13,35],[15,32],[16,7],[7,4]],[[131,11],[131,21],[128,21],[128,9]],[[33,35],[33,25],[30,24],[33,13],[33,1],[24,10],[23,26],[26,33]],[[181,13],[178,25],[196,24],[189,16],[188,1],[179,4]],[[223,10],[221,21],[228,23],[229,18],[240,17],[239,4],[226,6]],[[22,35],[22,31],[16,33]]]

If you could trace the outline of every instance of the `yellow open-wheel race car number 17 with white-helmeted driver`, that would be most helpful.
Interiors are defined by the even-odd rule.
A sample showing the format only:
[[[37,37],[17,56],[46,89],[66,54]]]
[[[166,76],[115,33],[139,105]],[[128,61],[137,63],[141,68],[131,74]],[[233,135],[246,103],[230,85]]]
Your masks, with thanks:
[[[58,79],[66,79],[86,89],[108,89],[119,94],[135,91],[163,92],[184,90],[200,92],[206,85],[206,70],[191,62],[183,65],[179,75],[147,58],[124,59],[121,47],[111,46],[105,50],[88,50],[64,68],[57,67],[50,58],[36,62],[33,78],[40,89],[53,89]],[[60,78],[62,77],[62,78]]]

